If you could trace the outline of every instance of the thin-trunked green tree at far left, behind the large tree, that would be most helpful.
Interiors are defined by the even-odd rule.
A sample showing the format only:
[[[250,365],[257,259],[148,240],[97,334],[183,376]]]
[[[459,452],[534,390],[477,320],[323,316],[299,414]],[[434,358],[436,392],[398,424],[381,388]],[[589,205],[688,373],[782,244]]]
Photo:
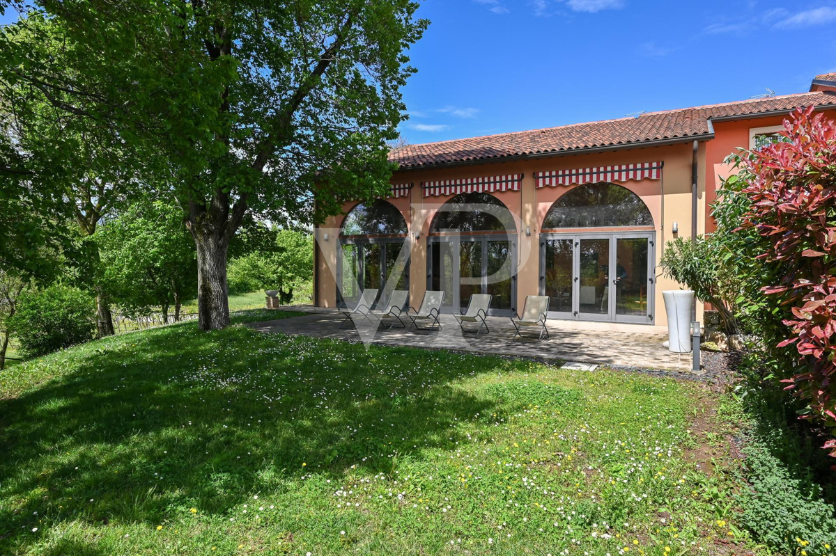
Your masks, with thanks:
[[[70,35],[59,19],[43,13],[0,31],[0,46],[8,51],[7,63],[0,64],[0,174],[17,190],[6,202],[20,209],[0,230],[8,228],[11,245],[63,240],[66,249],[73,239],[64,233],[66,222],[74,221],[82,238],[74,247],[96,298],[99,336],[107,336],[114,330],[97,280],[99,252],[85,239],[109,210],[135,194],[138,170],[153,157],[145,156],[139,144],[128,148],[108,76],[92,71],[102,59],[90,56]],[[37,252],[18,246],[7,258],[18,267],[32,266],[28,258]]]

